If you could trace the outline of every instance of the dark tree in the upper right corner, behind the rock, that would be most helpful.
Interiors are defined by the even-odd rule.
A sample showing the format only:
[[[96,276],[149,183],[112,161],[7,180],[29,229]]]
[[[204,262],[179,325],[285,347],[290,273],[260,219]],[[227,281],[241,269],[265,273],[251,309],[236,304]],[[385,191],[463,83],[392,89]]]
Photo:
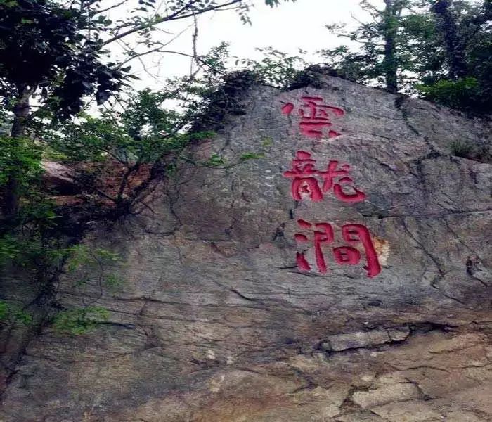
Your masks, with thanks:
[[[429,4],[441,72],[422,77],[422,96],[473,113],[492,112],[492,4],[439,0]],[[418,39],[418,34],[417,34]]]

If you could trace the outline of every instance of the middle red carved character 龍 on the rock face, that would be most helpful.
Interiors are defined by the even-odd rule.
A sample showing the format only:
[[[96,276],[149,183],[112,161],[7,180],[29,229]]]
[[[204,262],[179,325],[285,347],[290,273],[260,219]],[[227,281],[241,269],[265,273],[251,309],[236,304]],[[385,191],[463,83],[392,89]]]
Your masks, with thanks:
[[[355,193],[345,193],[342,184],[352,184],[353,179],[348,177],[350,166],[342,165],[342,170],[337,170],[338,161],[330,161],[328,170],[321,172],[315,168],[316,160],[311,158],[311,154],[306,151],[297,151],[296,158],[292,160],[292,168],[284,172],[283,175],[292,179],[291,193],[294,200],[302,200],[303,196],[309,195],[313,202],[323,200],[323,193],[333,189],[335,196],[346,203],[358,203],[365,200],[365,193],[359,191],[355,186],[351,186]],[[323,187],[320,188],[318,179],[323,179]],[[337,183],[334,183],[334,180]]]

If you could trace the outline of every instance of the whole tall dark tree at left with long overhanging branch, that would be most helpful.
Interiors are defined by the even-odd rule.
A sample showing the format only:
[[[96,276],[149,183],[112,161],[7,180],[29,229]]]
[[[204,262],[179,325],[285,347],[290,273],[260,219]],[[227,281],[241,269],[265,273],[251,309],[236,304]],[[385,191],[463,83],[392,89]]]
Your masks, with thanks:
[[[265,1],[272,7],[280,3]],[[169,52],[152,37],[160,24],[226,6],[248,21],[250,0],[170,0],[163,14],[155,0],[119,0],[108,6],[97,0],[0,0],[0,96],[9,113],[11,137],[30,136],[28,129],[36,119],[70,119],[90,96],[98,103],[106,101],[131,77],[130,68],[124,67],[129,60],[150,51]],[[126,11],[128,18],[112,22],[108,13],[117,10]],[[147,51],[127,48],[129,57],[112,63],[108,47],[131,37]],[[11,161],[15,167],[14,155]],[[20,186],[15,174],[7,179],[3,212],[11,220],[18,212]]]

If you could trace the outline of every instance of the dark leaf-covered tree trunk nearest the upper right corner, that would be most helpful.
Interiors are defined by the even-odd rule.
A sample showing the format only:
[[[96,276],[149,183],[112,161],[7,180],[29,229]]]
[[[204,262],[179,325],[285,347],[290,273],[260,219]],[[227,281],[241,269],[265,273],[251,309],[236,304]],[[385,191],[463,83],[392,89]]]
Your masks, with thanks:
[[[466,77],[467,64],[465,60],[465,46],[460,41],[458,24],[450,9],[451,0],[437,0],[432,7],[436,14],[437,26],[441,31],[446,46],[446,56],[449,63],[449,77],[453,80]]]

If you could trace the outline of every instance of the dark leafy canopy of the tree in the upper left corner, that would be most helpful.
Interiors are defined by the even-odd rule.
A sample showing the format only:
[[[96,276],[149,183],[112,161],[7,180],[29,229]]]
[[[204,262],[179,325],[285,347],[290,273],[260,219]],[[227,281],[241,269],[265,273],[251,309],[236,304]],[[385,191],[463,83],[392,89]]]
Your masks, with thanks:
[[[66,119],[82,109],[83,96],[94,94],[102,103],[122,86],[129,69],[102,62],[98,34],[106,21],[87,15],[91,4],[0,0],[0,96],[7,106],[36,92]]]

